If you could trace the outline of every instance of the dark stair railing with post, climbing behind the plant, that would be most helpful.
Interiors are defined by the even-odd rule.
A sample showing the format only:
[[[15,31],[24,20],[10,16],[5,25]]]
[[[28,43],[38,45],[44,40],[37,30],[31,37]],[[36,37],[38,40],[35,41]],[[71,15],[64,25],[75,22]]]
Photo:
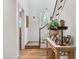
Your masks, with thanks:
[[[64,3],[62,3],[64,1]],[[58,5],[58,3],[61,3],[62,5]],[[64,5],[65,5],[65,3],[66,3],[66,0],[56,0],[56,3],[55,3],[55,7],[54,7],[54,11],[53,11],[53,14],[52,14],[52,16],[51,16],[51,21],[54,19],[54,18],[56,18],[56,19],[59,19],[59,16],[60,16],[60,12],[58,12],[58,13],[56,13],[57,11],[60,11],[61,10],[61,12],[63,11],[63,7],[64,7]],[[58,7],[59,6],[59,7]],[[58,8],[57,8],[58,7]],[[48,23],[47,24],[45,24],[44,26],[42,26],[41,28],[39,28],[39,46],[41,46],[41,30],[43,29],[43,28],[45,28],[46,26],[48,25]]]

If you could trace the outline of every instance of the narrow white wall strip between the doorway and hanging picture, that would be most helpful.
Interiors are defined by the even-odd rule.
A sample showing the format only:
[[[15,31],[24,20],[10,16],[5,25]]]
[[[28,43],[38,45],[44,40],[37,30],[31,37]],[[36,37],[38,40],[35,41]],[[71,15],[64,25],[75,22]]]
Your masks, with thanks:
[[[22,39],[21,39],[21,42],[22,42],[22,49],[25,48],[25,45],[28,43],[28,28],[26,28],[26,14],[25,12],[23,13],[23,18],[22,18],[22,32],[21,32],[21,35],[22,35]]]

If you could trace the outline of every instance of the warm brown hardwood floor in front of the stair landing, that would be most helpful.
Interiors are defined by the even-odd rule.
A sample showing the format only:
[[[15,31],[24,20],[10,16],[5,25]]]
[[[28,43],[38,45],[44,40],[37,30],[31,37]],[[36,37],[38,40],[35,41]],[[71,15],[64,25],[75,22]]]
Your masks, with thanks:
[[[24,49],[20,51],[20,59],[55,59],[51,49]]]

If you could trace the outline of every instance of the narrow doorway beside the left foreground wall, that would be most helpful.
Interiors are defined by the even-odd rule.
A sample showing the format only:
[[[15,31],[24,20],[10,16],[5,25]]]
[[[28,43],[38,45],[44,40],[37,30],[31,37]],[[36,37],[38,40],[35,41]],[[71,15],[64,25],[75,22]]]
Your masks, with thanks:
[[[23,34],[23,20],[24,20],[24,10],[21,8],[19,10],[19,18],[18,18],[18,23],[19,23],[19,49],[24,48],[24,34]]]

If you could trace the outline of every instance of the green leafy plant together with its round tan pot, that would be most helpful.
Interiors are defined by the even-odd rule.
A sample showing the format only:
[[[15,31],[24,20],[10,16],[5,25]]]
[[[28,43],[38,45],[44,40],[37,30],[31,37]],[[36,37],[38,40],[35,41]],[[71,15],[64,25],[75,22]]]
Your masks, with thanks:
[[[48,30],[50,31],[50,36],[56,37],[58,35],[59,33],[58,27],[59,23],[56,20],[53,20],[48,24]]]

